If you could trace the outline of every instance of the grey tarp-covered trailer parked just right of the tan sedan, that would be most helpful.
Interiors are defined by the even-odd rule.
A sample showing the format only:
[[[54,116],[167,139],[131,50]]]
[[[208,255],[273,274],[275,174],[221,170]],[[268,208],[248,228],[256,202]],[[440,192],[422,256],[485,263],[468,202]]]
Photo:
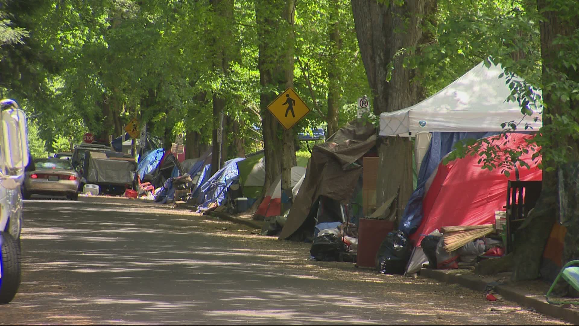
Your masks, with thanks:
[[[137,162],[130,155],[87,151],[82,176],[85,183],[97,184],[101,192],[122,194],[135,183]]]

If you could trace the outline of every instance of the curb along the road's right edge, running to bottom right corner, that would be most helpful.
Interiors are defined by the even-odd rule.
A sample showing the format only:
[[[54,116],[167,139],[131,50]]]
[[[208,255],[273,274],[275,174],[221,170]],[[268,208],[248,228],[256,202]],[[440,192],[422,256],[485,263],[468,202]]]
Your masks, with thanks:
[[[480,278],[472,275],[454,275],[445,273],[442,270],[422,269],[420,276],[433,278],[437,281],[447,282],[451,284],[459,284],[463,287],[470,288],[475,291],[484,292],[486,285],[492,283],[492,278]],[[544,295],[530,295],[511,285],[497,285],[494,292],[503,296],[505,300],[510,300],[518,303],[518,305],[533,308],[538,313],[547,316],[559,318],[569,321],[574,325],[579,325],[579,310],[564,308],[559,305],[551,305],[545,300]]]

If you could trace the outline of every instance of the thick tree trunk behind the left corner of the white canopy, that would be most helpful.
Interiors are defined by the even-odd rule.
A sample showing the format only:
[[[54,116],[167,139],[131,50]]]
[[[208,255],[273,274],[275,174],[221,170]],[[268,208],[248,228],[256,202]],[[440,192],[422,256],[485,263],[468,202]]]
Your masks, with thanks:
[[[424,96],[423,88],[413,81],[416,71],[404,67],[404,59],[409,55],[409,49],[416,48],[427,38],[423,33],[423,22],[431,18],[436,1],[406,0],[399,5],[395,1],[351,0],[351,5],[360,55],[373,93],[374,114],[396,111],[418,103]],[[404,151],[401,153],[401,166],[412,166],[410,140],[396,139],[395,142],[397,146],[393,147],[379,143],[380,162],[387,162],[391,151],[401,148]],[[379,166],[378,184],[384,187],[377,191],[376,202],[387,200],[384,195],[396,194],[395,190],[400,189],[397,194],[399,218],[412,194],[412,186],[409,186],[412,176],[410,174],[409,178],[400,181],[389,176],[389,169],[390,166]],[[406,173],[403,175],[408,176]]]

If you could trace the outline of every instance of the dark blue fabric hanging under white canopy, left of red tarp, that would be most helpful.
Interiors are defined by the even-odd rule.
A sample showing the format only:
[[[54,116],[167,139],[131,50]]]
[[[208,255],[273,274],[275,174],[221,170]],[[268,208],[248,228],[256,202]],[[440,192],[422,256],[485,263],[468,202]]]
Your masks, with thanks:
[[[468,138],[481,139],[498,135],[499,133],[500,132],[433,132],[430,146],[426,154],[424,154],[422,165],[420,165],[416,189],[410,196],[408,204],[406,204],[400,224],[398,225],[398,230],[401,230],[404,235],[408,237],[418,229],[423,218],[422,199],[426,194],[424,189],[426,181],[432,173],[437,170],[442,158],[454,149],[455,144],[459,142],[459,140]]]

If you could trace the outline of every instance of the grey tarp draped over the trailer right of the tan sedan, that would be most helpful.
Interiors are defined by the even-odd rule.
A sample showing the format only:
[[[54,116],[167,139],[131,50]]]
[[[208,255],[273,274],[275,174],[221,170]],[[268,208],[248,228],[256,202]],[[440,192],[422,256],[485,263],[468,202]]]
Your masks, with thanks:
[[[102,154],[102,155],[99,155]],[[103,157],[104,156],[104,157]],[[137,162],[123,158],[107,158],[104,153],[86,154],[83,175],[87,183],[96,184],[133,184]]]

